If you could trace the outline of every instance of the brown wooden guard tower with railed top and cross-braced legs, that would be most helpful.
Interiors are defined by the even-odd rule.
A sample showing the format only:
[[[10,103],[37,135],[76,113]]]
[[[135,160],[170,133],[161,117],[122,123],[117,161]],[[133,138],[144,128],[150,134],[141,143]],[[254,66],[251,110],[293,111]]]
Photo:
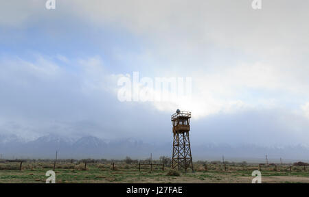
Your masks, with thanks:
[[[171,116],[174,134],[172,168],[178,170],[182,168],[186,171],[187,168],[191,168],[193,172],[189,139],[190,118],[191,112],[180,111],[179,109]]]

